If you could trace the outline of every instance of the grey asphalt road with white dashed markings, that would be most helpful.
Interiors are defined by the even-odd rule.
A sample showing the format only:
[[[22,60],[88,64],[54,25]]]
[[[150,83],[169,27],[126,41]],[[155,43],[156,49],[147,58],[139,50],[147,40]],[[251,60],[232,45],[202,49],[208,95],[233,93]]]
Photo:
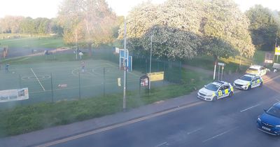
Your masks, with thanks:
[[[260,132],[256,120],[280,101],[280,78],[231,98],[197,102],[132,123],[72,136],[52,146],[253,146],[279,147],[280,137]],[[278,91],[278,92],[277,92]]]

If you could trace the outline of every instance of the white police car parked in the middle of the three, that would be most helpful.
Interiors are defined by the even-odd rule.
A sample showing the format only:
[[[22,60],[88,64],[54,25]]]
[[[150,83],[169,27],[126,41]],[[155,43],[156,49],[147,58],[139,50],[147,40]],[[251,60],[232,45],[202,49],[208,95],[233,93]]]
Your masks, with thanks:
[[[253,87],[262,87],[263,80],[258,75],[245,74],[239,79],[235,80],[233,87],[236,87],[241,90],[251,90]]]

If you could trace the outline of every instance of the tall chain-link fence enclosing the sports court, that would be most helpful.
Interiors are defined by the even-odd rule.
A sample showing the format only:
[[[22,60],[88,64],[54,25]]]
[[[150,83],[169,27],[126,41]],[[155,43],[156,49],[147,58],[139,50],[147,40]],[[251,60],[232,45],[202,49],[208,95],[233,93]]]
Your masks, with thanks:
[[[28,87],[29,99],[14,102],[1,102],[0,108],[58,102],[63,100],[103,97],[106,94],[123,93],[123,74],[119,69],[118,55],[112,50],[94,51],[92,59],[87,59],[85,71],[76,62],[30,64],[13,69],[9,73],[0,71],[0,90],[13,90]],[[100,63],[100,64],[97,64]],[[108,64],[112,63],[110,66]],[[149,71],[150,60],[146,57],[133,58],[133,71],[127,72],[127,90],[139,90],[139,78]],[[97,66],[98,65],[98,66]],[[31,67],[29,67],[31,66]],[[151,72],[164,71],[165,80],[152,82],[152,87],[181,83],[181,62],[152,59]],[[118,80],[120,79],[120,80]],[[118,82],[120,81],[120,83]]]

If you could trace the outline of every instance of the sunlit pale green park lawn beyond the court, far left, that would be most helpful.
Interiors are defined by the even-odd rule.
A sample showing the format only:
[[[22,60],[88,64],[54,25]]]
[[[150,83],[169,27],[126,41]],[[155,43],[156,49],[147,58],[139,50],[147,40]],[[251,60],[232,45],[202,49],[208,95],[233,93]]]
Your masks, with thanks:
[[[1,39],[2,47],[8,48],[61,48],[64,46],[62,38],[56,37],[28,37],[28,38],[6,38]]]

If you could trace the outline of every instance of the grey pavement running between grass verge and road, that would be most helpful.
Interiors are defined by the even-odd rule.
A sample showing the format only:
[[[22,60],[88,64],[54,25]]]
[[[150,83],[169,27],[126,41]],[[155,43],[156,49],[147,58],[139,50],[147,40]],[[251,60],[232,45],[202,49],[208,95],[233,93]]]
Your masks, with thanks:
[[[234,79],[234,77],[239,76],[239,73],[225,75],[225,80]],[[276,73],[272,73],[271,75],[267,76],[267,79],[276,76]],[[1,138],[0,146],[39,146],[42,144],[47,144],[48,142],[75,137],[78,134],[85,134],[94,130],[95,132],[99,132],[99,130],[101,130],[100,132],[102,132],[102,129],[109,130],[107,128],[120,127],[123,126],[122,124],[127,122],[130,124],[137,122],[138,120],[141,121],[147,116],[154,115],[154,117],[156,117],[158,116],[158,113],[178,108],[184,109],[185,107],[188,107],[190,105],[201,103],[202,101],[200,99],[195,98],[196,93],[197,92],[192,92],[188,95],[176,97],[174,99],[168,99],[166,101],[155,102],[154,104],[148,104],[137,109],[116,113],[110,116],[94,118],[92,120],[85,120],[83,122],[72,123],[69,125],[50,127],[44,130],[38,130],[36,132],[20,134],[18,136]]]

